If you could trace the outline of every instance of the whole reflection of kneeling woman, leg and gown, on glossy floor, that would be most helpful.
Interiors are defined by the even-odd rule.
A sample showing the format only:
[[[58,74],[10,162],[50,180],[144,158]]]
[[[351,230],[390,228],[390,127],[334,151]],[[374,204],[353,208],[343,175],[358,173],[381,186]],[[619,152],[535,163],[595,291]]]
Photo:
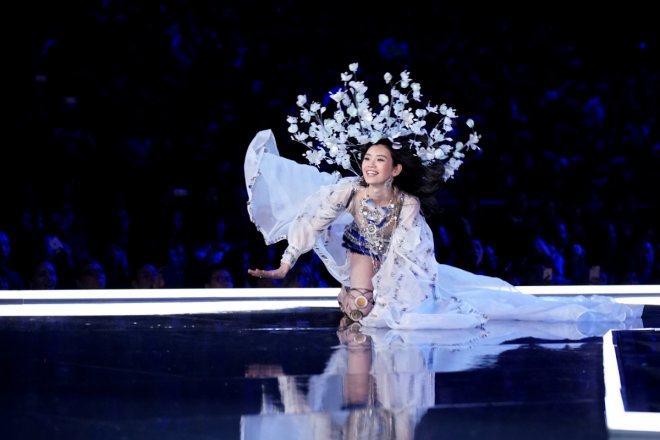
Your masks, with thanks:
[[[436,373],[489,368],[498,355],[519,347],[511,341],[522,338],[579,344],[606,331],[575,322],[490,321],[483,329],[416,331],[354,323],[340,328],[341,345],[306,386],[281,368],[249,369],[250,377],[277,377],[279,395],[265,395],[260,414],[242,417],[242,438],[413,438],[437,403]],[[281,409],[269,404],[278,399]]]

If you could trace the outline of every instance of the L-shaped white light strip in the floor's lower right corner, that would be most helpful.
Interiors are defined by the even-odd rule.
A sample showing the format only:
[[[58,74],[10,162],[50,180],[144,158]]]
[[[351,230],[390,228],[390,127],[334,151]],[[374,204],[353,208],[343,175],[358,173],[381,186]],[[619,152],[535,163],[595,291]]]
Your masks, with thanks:
[[[607,428],[610,431],[627,434],[632,432],[638,434],[660,433],[660,414],[626,411],[624,408],[623,396],[621,395],[621,375],[616,360],[612,332],[610,330],[603,336],[603,370]]]

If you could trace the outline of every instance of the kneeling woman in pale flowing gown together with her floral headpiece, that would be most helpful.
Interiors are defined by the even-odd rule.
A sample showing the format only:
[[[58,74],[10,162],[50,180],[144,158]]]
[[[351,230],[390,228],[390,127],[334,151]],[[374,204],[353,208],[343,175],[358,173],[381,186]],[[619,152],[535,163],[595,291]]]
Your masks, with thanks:
[[[451,108],[409,108],[420,94],[407,72],[389,98],[379,97],[379,112],[369,107],[363,83],[343,77],[346,89],[333,94],[334,118],[324,119],[323,107],[308,108],[301,97],[301,120],[290,120],[290,131],[308,146],[310,162],[359,164],[360,177],[281,158],[272,133],[258,133],[245,158],[249,213],[268,244],[287,239],[288,247],[279,268],[251,275],[283,278],[313,249],[343,286],[342,310],[371,327],[458,329],[488,319],[624,321],[641,314],[641,307],[609,298],[540,299],[501,279],[439,265],[424,214],[479,136],[452,139]],[[427,116],[438,113],[439,124],[427,131]],[[310,124],[308,133],[298,132],[301,121]]]

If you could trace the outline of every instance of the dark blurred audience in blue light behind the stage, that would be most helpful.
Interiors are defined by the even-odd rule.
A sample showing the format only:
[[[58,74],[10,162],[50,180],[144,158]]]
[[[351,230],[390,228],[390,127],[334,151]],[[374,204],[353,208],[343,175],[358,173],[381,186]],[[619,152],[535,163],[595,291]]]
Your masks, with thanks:
[[[11,208],[0,218],[0,289],[335,286],[313,254],[286,282],[245,277],[276,267],[282,249],[263,247],[248,218],[241,164],[263,128],[300,158],[285,124],[295,94],[327,90],[353,61],[366,76],[403,66],[424,95],[457,102],[478,124],[482,151],[429,219],[439,262],[514,284],[660,282],[650,16],[634,16],[638,30],[621,37],[606,24],[632,11],[617,10],[587,36],[573,26],[580,13],[549,13],[529,34],[504,11],[420,6],[407,36],[388,35],[396,30],[383,31],[378,16],[360,21],[380,39],[376,50],[350,33],[333,37],[337,51],[359,54],[342,62],[324,50],[295,57],[280,43],[290,29],[327,41],[328,23],[346,18],[329,8],[327,22],[310,20],[296,3],[260,5],[277,19],[250,32],[237,25],[252,6],[231,0],[165,1],[159,14],[142,0],[53,4],[35,15],[21,37],[30,81],[18,84],[12,111],[30,130],[3,153],[13,173],[0,175]],[[476,32],[463,32],[468,23]],[[419,49],[377,49],[388,41]]]

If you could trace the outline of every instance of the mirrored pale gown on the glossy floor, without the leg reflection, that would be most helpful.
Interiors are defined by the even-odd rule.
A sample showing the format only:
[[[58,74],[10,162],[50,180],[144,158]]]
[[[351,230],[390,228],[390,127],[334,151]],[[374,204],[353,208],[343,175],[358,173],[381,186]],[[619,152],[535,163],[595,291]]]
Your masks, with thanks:
[[[613,327],[628,329],[637,324],[633,320],[614,323]],[[581,340],[603,336],[608,330],[605,326],[583,329],[578,322],[506,320],[460,330],[362,327],[361,333],[368,335],[372,344],[369,374],[376,390],[372,407],[403,430],[387,438],[412,438],[407,434],[414,433],[428,409],[436,405],[436,373],[494,367],[500,354],[520,347],[515,341],[522,338],[540,340],[539,346],[548,350],[570,350],[578,348]],[[284,409],[264,405],[260,414],[243,415],[241,438],[342,438],[351,415],[343,408],[348,356],[345,345],[337,347],[323,373],[311,376],[307,387],[299,387],[295,376],[278,377],[279,396],[267,396],[265,401],[279,397]]]

